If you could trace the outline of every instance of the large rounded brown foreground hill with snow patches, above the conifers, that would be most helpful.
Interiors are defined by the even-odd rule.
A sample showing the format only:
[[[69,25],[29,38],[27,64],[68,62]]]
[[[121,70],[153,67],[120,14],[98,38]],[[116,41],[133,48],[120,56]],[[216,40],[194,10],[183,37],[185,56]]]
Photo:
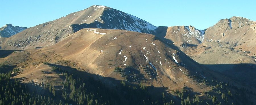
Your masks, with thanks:
[[[28,84],[32,88],[30,90],[43,92],[40,94],[44,95],[47,93],[42,89],[47,91],[48,88],[45,84],[52,83],[56,90],[62,92],[62,87],[67,83],[67,79],[63,79],[67,78],[63,76],[66,75],[63,72],[69,72],[81,78],[92,76],[105,83],[112,91],[117,90],[120,93],[127,91],[118,90],[124,84],[133,89],[145,85],[149,88],[150,95],[155,98],[166,95],[168,100],[163,102],[172,100],[181,103],[184,99],[200,97],[201,103],[212,103],[210,95],[217,97],[216,100],[221,103],[227,100],[229,103],[241,104],[244,101],[253,102],[252,99],[255,98],[248,91],[240,90],[248,89],[247,86],[208,70],[173,44],[164,43],[155,35],[146,33],[86,28],[46,48],[2,50],[0,55],[2,65],[13,64],[20,69],[13,73],[15,76],[12,78]],[[124,84],[118,85],[120,82]],[[143,85],[137,87],[138,84]],[[221,98],[223,96],[220,93],[228,95],[227,98]],[[229,96],[231,93],[233,97]],[[127,94],[123,96],[128,98]],[[61,93],[56,95],[62,96]]]

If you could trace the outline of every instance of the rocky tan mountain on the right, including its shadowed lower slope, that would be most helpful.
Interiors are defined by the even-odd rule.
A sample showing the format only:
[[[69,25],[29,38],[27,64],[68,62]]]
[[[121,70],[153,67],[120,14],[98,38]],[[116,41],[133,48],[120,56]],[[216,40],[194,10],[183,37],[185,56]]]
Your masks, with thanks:
[[[209,70],[219,72],[247,85],[256,86],[256,80],[252,75],[256,73],[255,27],[255,21],[234,16],[222,19],[212,27],[205,29],[201,43],[182,40],[185,37],[178,36],[183,31],[178,30],[171,31],[177,32],[172,37],[168,37],[167,31],[164,38],[172,40],[173,42],[170,40],[167,42],[173,43]],[[197,39],[199,38],[193,40]]]

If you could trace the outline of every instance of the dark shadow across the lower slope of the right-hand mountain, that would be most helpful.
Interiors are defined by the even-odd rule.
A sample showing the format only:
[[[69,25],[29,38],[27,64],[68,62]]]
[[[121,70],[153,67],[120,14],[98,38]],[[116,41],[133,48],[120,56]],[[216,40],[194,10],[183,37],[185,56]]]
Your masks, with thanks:
[[[214,64],[206,65],[208,70],[218,72],[228,76],[229,78],[234,79],[237,82],[242,83],[243,85],[248,85],[251,87],[256,87],[256,65],[255,64]]]

